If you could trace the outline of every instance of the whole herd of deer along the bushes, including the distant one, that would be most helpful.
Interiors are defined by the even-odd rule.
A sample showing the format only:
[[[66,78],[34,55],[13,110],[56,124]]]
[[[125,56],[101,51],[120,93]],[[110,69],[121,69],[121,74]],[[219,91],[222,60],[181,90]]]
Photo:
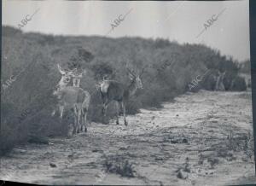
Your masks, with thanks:
[[[69,135],[73,135],[79,132],[86,132],[86,117],[90,105],[90,93],[79,87],[80,79],[83,73],[78,73],[77,68],[73,70],[63,70],[61,66],[57,65],[59,72],[61,73],[61,80],[56,86],[56,90],[53,95],[56,96],[58,103],[57,107],[54,109],[52,116],[55,115],[55,111],[59,110],[60,118],[62,119],[64,109],[73,108],[74,113],[74,123],[72,130],[70,130]],[[143,83],[140,78],[145,67],[138,73],[133,69],[126,66],[128,76],[131,80],[130,84],[127,86],[121,84],[115,80],[109,80],[103,78],[99,84],[96,84],[98,90],[100,90],[102,95],[102,114],[106,116],[106,111],[108,104],[112,101],[116,102],[116,124],[119,125],[119,111],[120,108],[123,109],[124,124],[128,125],[125,118],[125,106],[129,100],[129,97],[135,94],[138,89],[143,89]],[[224,73],[219,73],[216,78],[215,90],[224,90],[223,84]],[[69,85],[73,79],[73,85]]]

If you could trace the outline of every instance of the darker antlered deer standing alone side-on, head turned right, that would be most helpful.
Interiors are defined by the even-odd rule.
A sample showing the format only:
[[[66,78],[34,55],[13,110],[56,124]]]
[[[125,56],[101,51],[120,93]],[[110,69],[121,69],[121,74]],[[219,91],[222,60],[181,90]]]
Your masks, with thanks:
[[[103,78],[101,84],[99,84],[99,89],[102,95],[102,115],[106,116],[108,104],[110,102],[116,102],[116,124],[119,125],[119,110],[123,108],[124,123],[128,125],[125,116],[125,107],[129,101],[129,98],[133,96],[138,89],[143,89],[143,83],[140,78],[142,73],[136,73],[134,70],[131,70],[126,65],[126,70],[128,77],[130,78],[130,84],[127,86],[121,84],[115,80],[108,80]],[[144,70],[144,68],[143,68]]]

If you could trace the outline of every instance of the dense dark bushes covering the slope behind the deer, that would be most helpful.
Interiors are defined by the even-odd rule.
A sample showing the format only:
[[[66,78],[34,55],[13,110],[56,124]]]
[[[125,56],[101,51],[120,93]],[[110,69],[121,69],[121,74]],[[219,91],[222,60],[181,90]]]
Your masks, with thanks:
[[[243,79],[237,76],[237,61],[202,44],[177,44],[161,38],[53,36],[23,33],[9,26],[3,26],[2,31],[0,154],[31,137],[66,134],[67,123],[73,120],[71,113],[65,114],[62,124],[50,115],[55,107],[52,91],[61,78],[57,63],[64,68],[87,70],[81,87],[92,94],[89,120],[96,122],[102,119],[96,83],[108,74],[128,84],[126,61],[137,70],[147,66],[141,77],[144,89],[131,97],[129,113],[137,113],[139,108],[160,107],[161,102],[189,90],[189,82],[207,69],[226,71],[226,84],[237,78],[236,90],[245,90]],[[109,118],[113,115],[111,107]]]

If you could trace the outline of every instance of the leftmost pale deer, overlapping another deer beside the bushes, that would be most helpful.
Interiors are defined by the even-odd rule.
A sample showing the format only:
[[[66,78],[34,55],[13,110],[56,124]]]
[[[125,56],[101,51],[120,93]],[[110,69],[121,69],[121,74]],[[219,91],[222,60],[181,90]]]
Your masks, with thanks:
[[[55,111],[58,108],[60,119],[62,119],[64,109],[73,108],[74,123],[72,134],[79,133],[79,131],[87,132],[86,118],[90,105],[90,94],[77,85],[68,85],[73,74],[77,71],[76,68],[73,69],[73,71],[65,71],[59,64],[57,64],[57,67],[61,73],[61,80],[56,85],[56,90],[53,92],[53,95],[57,97],[57,107],[53,110],[52,116],[55,115]]]

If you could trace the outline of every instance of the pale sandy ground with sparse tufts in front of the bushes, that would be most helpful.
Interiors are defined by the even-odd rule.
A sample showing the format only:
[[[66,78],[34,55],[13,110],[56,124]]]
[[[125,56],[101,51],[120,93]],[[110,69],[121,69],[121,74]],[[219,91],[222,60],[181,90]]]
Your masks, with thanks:
[[[250,91],[201,90],[127,119],[128,126],[122,119],[120,125],[91,123],[86,134],[15,148],[2,158],[0,178],[41,184],[256,183]],[[126,160],[134,177],[113,171],[120,166],[129,172],[122,166]]]

